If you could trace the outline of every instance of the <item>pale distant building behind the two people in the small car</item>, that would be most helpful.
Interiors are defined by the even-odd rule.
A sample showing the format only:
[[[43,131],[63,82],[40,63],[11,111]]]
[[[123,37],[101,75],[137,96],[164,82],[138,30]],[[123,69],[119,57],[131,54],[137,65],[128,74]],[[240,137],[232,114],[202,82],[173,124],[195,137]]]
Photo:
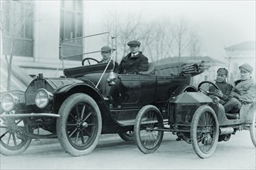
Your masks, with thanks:
[[[254,68],[252,76],[255,80],[255,41],[241,42],[225,49],[227,52],[226,59],[230,63],[230,82],[240,79],[238,66],[243,63],[249,63]]]

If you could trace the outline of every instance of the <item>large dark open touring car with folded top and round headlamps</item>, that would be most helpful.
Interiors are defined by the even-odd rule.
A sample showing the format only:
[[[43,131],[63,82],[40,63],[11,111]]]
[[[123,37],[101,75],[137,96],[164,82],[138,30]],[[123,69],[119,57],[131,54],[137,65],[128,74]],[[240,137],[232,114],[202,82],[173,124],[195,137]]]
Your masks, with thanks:
[[[83,66],[92,60],[98,64]],[[154,106],[168,120],[174,116],[173,97],[176,100],[185,91],[201,94],[189,85],[190,79],[208,67],[204,62],[150,63],[149,70],[140,74],[114,73],[115,68],[112,60],[99,63],[85,58],[82,66],[64,69],[64,76],[39,73],[25,92],[6,92],[1,100],[0,153],[19,155],[32,139],[58,138],[64,151],[81,156],[93,151],[101,134],[132,140],[141,109]]]

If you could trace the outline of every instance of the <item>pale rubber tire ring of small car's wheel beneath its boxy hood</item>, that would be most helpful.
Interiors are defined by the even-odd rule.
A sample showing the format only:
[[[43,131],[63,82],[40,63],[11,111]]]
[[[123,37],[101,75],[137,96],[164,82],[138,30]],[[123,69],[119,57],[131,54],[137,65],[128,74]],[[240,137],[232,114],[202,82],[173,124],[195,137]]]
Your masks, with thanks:
[[[206,111],[209,112],[210,114],[212,114],[213,117],[214,117],[214,121],[216,123],[216,127],[215,127],[216,128],[216,134],[215,134],[215,138],[213,138],[213,142],[214,142],[213,147],[210,149],[210,151],[208,151],[207,153],[204,153],[199,148],[196,132],[197,132],[197,125],[199,123],[199,118]],[[198,155],[200,158],[209,158],[211,155],[213,155],[213,152],[215,151],[216,146],[218,144],[219,123],[217,121],[216,114],[215,114],[214,110],[211,107],[203,105],[203,106],[199,107],[197,110],[195,110],[195,114],[192,117],[192,125],[191,125],[191,129],[190,129],[190,135],[191,135],[192,147],[193,147],[196,155]]]

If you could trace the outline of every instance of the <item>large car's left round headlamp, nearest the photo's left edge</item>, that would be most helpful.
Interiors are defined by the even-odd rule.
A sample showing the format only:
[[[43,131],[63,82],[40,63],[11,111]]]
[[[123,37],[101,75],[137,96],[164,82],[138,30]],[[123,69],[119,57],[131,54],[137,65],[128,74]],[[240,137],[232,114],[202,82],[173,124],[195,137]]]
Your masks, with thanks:
[[[18,103],[19,98],[12,93],[5,93],[1,100],[2,109],[5,111],[11,111]]]

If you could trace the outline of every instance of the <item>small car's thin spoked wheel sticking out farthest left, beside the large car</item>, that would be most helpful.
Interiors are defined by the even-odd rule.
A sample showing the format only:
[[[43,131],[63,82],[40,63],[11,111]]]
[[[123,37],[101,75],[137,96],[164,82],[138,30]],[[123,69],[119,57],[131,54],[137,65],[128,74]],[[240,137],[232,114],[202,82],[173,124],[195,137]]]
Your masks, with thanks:
[[[154,152],[161,145],[164,131],[157,131],[164,128],[161,112],[152,105],[142,107],[137,114],[134,134],[137,147],[144,154]]]

